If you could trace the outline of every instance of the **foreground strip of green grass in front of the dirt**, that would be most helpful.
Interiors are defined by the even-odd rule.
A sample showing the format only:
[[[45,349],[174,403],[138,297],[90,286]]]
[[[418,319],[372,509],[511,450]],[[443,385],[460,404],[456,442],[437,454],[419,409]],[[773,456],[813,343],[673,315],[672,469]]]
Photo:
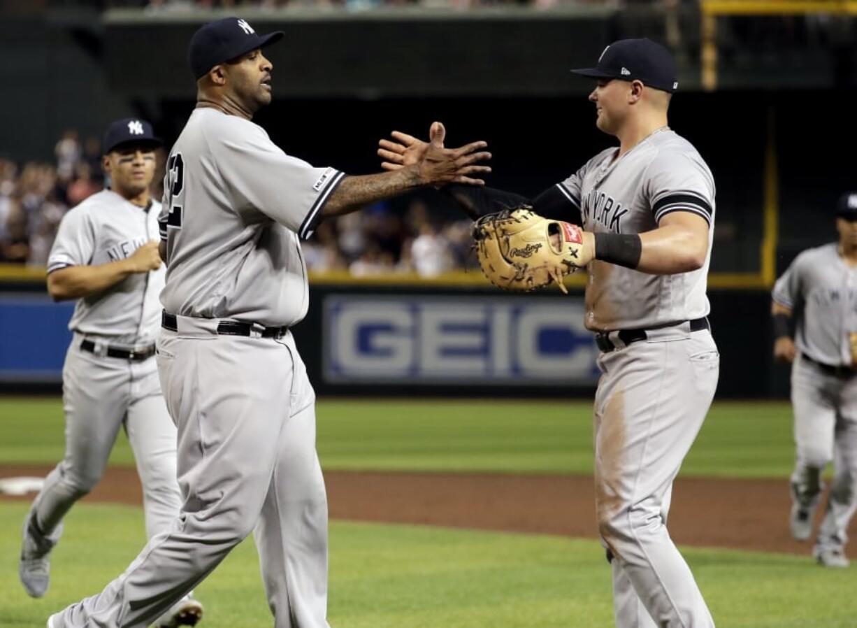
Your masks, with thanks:
[[[25,504],[0,504],[0,625],[42,628],[46,617],[98,591],[140,549],[139,509],[81,505],[69,514],[48,595],[17,582]],[[105,525],[109,521],[110,525]],[[854,570],[830,571],[777,554],[688,549],[718,626],[852,628]],[[358,523],[331,528],[329,619],[334,628],[604,628],[609,569],[590,540]],[[261,628],[271,619],[252,542],[197,595],[208,628]]]

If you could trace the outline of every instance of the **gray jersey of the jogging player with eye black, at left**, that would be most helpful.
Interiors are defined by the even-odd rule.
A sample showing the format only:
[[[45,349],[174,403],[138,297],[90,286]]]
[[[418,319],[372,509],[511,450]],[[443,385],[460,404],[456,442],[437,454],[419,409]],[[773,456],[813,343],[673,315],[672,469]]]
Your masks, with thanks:
[[[133,255],[158,239],[160,203],[143,209],[116,192],[102,190],[63,216],[48,257],[48,273],[68,266],[97,266]],[[109,336],[122,345],[152,344],[160,327],[158,295],[165,270],[135,273],[103,293],[78,299],[69,329]]]

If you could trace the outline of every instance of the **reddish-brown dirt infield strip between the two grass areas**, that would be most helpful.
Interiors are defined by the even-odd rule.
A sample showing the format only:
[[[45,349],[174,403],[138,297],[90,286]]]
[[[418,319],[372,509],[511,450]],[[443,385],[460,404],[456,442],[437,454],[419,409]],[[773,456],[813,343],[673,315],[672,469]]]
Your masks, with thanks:
[[[0,478],[39,476],[48,470],[3,466]],[[596,536],[591,477],[328,472],[325,478],[333,519]],[[135,469],[111,468],[86,499],[140,504]],[[807,554],[810,546],[792,540],[788,532],[788,509],[785,479],[680,479],[669,528],[680,545]],[[849,532],[857,534],[857,525]]]

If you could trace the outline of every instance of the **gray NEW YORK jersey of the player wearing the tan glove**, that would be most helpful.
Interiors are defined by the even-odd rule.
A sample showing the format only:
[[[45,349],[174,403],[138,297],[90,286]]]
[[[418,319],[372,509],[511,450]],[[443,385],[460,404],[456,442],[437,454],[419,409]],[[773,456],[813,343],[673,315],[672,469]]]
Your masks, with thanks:
[[[598,260],[586,287],[588,329],[651,329],[707,316],[705,295],[714,234],[714,178],[696,148],[673,130],[656,131],[618,160],[608,148],[557,184],[591,232],[642,233],[674,211],[707,220],[709,253],[702,268],[648,275]]]

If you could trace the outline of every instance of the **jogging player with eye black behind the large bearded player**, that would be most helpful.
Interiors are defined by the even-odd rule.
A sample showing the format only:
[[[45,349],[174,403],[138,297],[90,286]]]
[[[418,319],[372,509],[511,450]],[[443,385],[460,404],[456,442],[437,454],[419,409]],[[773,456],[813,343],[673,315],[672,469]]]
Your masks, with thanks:
[[[160,203],[149,198],[149,185],[160,144],[151,124],[139,118],[107,128],[102,164],[110,189],[63,217],[48,259],[51,297],[77,303],[63,365],[65,457],[24,523],[19,575],[33,597],[45,595],[63,517],[98,484],[120,427],[143,486],[147,537],[170,529],[181,506],[176,426],[154,359],[165,271],[156,239]],[[157,625],[194,625],[202,607],[186,597],[165,611]]]

